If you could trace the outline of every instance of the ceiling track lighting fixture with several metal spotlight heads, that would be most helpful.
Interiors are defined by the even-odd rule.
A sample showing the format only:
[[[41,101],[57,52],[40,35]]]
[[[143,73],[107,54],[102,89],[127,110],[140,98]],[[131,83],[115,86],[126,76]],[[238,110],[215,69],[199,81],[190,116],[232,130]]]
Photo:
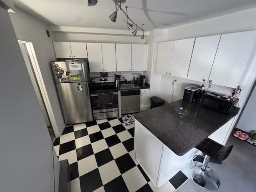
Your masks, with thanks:
[[[131,30],[131,28],[132,28],[134,25],[136,25],[136,30],[132,32],[132,35],[136,36],[138,29],[141,29],[142,32],[143,32],[143,35],[141,36],[141,39],[145,39],[145,36],[144,36],[144,32],[145,32],[145,31],[144,31],[144,24],[142,24],[142,28],[140,28],[139,26],[137,26],[137,24],[135,24],[135,23],[128,17],[128,14],[127,14],[127,8],[128,8],[128,6],[126,6],[126,12],[124,12],[124,10],[121,8],[121,4],[124,3],[124,2],[126,2],[126,0],[112,0],[112,1],[113,1],[113,2],[115,3],[115,5],[116,5],[116,11],[113,12],[113,13],[109,16],[110,20],[111,20],[112,22],[116,22],[117,11],[118,11],[118,9],[120,8],[120,10],[123,12],[123,14],[124,14],[124,15],[126,16],[126,18],[127,18],[127,22],[126,22],[126,20],[124,20],[124,21],[126,22],[127,27],[129,28],[129,30]],[[87,4],[88,4],[88,6],[94,6],[94,5],[98,4],[98,0],[87,0]],[[118,8],[117,8],[117,6],[118,6]],[[130,21],[130,23],[129,23],[129,21]]]

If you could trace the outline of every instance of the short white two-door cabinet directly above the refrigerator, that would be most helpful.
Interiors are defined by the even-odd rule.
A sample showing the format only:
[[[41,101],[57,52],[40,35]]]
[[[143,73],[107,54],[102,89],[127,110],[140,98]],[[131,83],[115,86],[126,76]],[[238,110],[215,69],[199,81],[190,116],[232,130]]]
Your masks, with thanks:
[[[88,58],[84,42],[53,42],[56,58]]]

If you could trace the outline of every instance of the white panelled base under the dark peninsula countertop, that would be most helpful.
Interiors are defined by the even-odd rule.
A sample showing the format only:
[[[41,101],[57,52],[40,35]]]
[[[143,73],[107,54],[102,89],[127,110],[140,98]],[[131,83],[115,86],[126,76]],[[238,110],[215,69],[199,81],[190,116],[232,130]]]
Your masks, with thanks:
[[[137,120],[135,120],[134,150],[136,160],[157,188],[163,186],[199,153],[193,148],[184,156],[176,155]]]

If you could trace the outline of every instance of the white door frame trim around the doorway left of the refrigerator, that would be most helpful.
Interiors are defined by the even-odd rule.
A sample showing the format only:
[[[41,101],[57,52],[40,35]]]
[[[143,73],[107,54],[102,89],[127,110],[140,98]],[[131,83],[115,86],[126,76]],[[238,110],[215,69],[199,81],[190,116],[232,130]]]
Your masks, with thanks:
[[[47,94],[47,91],[46,91],[44,80],[42,78],[42,73],[40,72],[40,67],[39,67],[39,64],[38,64],[38,61],[37,61],[37,58],[36,58],[36,53],[34,51],[33,44],[32,44],[32,42],[27,42],[27,41],[23,41],[23,40],[18,40],[18,42],[19,43],[24,43],[26,45],[26,48],[28,50],[28,54],[30,56],[32,66],[34,68],[36,79],[38,81],[38,86],[39,86],[40,91],[42,93],[44,104],[46,106],[46,110],[48,112],[50,122],[52,124],[52,129],[54,131],[55,136],[60,137],[60,132],[58,130],[58,126],[57,126],[56,120],[54,118],[54,113],[52,111],[52,106],[50,104],[50,100],[49,100],[49,97],[48,97],[48,94]]]

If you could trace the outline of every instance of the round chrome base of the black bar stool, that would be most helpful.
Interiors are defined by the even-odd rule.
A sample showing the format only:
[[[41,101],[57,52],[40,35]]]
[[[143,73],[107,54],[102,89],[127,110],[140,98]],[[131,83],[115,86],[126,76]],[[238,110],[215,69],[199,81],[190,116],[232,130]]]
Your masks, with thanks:
[[[196,161],[194,161],[194,163],[197,164]],[[198,164],[202,163],[198,162]],[[201,187],[208,190],[216,190],[219,188],[220,180],[210,167],[202,171],[200,167],[194,166],[192,162],[189,162],[186,168],[190,178]]]

